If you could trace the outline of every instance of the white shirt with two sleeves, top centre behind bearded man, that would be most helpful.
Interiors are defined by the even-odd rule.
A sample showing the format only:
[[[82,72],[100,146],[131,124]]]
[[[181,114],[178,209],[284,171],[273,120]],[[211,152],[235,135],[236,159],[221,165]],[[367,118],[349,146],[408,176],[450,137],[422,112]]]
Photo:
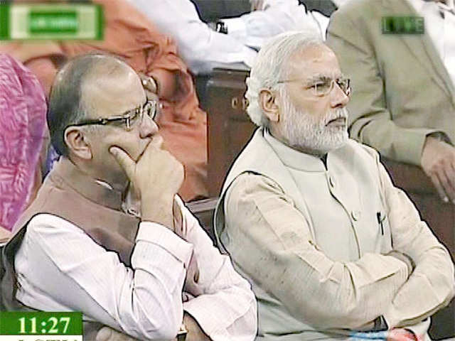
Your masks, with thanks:
[[[325,27],[321,31],[314,16],[305,13],[305,6],[299,6],[297,0],[280,0],[264,11],[225,19],[227,35],[203,23],[190,0],[129,1],[162,32],[176,39],[178,53],[194,74],[210,72],[218,63],[245,63],[251,67],[257,52],[249,46],[260,47],[264,39],[277,33],[309,28],[326,31]]]

